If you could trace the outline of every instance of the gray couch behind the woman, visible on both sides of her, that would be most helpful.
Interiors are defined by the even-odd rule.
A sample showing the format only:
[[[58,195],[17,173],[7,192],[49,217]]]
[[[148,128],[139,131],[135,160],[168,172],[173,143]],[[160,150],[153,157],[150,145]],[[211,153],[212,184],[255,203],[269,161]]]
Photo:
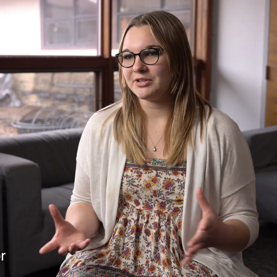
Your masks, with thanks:
[[[48,205],[63,216],[69,206],[82,131],[0,139],[0,252],[6,252],[0,277],[22,277],[64,260],[57,251],[40,255],[38,250],[55,231]],[[260,219],[277,222],[277,126],[243,134],[255,167]]]

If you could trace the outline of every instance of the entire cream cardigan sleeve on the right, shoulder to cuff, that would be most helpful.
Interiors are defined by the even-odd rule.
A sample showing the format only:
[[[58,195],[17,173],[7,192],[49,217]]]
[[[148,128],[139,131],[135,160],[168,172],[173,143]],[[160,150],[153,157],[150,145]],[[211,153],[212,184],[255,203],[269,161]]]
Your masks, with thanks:
[[[220,167],[219,216],[223,221],[238,219],[245,223],[250,231],[249,247],[259,233],[251,153],[239,126],[230,117],[217,112],[212,123],[214,151],[210,155]]]

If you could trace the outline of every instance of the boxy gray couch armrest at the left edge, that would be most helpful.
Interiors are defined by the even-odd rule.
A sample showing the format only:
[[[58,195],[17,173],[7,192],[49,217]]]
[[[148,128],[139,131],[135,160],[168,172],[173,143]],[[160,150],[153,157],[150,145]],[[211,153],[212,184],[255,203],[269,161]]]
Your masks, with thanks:
[[[38,253],[42,233],[41,177],[36,163],[0,153],[5,263],[20,276],[25,258]],[[28,259],[27,259],[28,260]]]

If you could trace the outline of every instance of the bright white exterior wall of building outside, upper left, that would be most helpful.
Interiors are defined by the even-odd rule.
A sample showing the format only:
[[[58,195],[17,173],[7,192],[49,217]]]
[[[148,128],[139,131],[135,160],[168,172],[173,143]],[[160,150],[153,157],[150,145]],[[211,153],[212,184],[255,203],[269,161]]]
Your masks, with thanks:
[[[39,0],[0,0],[0,55],[97,55],[96,49],[42,50]]]

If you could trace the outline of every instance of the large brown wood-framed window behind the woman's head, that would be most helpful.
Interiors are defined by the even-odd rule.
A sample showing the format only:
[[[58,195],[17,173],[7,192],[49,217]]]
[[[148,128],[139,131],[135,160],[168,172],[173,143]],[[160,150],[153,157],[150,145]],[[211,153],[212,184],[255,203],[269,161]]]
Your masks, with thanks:
[[[121,99],[119,36],[153,9],[185,26],[196,84],[209,99],[211,7],[212,0],[1,0],[0,136],[84,126]]]

